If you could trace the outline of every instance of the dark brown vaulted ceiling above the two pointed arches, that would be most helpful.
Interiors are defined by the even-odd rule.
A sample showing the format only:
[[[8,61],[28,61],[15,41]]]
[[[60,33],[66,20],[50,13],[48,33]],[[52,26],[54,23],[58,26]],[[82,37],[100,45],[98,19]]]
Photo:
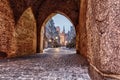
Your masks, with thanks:
[[[43,16],[43,20],[55,11],[68,15],[77,24],[79,15],[79,0],[9,0],[17,22],[23,12],[31,7],[36,20]],[[40,20],[41,21],[41,20]]]

